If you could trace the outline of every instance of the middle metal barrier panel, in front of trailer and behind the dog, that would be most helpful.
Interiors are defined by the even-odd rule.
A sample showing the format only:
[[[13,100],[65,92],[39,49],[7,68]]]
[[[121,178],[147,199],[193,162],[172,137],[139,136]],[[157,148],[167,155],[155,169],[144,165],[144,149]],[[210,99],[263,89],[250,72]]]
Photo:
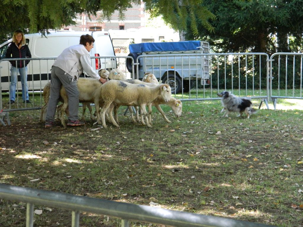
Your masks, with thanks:
[[[264,101],[269,109],[268,60],[265,53],[147,54],[136,58],[135,77],[155,74],[183,101],[217,100],[217,93],[228,89],[239,97],[261,99],[259,108]]]

